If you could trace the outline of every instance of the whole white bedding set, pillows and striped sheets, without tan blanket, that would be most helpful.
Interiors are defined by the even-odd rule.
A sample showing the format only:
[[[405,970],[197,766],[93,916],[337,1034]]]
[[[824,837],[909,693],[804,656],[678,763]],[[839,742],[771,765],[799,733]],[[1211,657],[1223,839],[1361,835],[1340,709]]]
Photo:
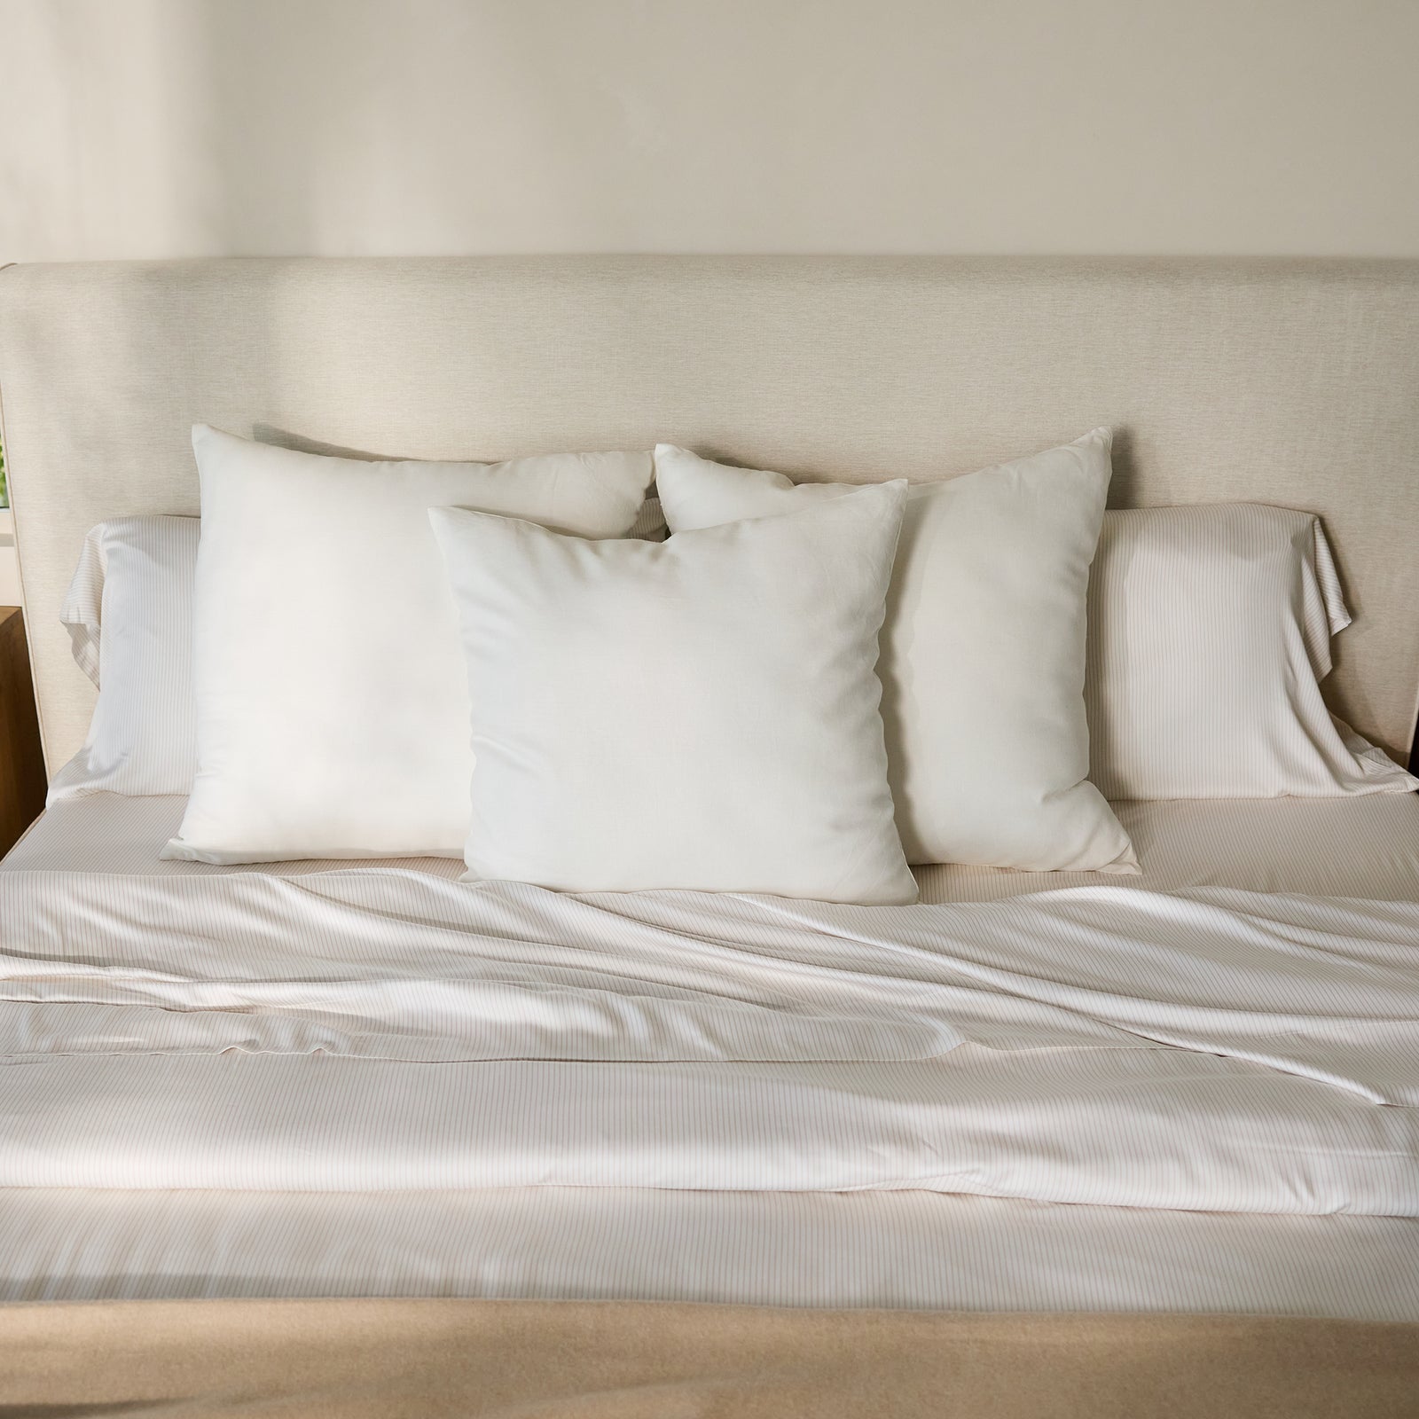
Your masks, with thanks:
[[[199,426],[0,864],[0,1294],[1419,1320],[1419,785],[1318,519],[1110,444]]]

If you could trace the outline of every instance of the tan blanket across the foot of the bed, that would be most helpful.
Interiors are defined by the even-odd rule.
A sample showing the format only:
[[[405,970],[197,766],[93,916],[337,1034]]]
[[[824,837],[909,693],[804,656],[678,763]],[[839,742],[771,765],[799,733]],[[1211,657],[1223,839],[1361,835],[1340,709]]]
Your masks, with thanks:
[[[1419,1413],[1419,1325],[582,1301],[0,1310],[0,1416]]]

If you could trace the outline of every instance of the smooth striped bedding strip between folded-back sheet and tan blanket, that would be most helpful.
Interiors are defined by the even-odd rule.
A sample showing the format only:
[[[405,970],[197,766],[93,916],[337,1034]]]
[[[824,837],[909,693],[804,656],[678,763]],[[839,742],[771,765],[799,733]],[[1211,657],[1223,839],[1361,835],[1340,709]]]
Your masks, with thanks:
[[[0,1301],[467,1296],[1419,1320],[1419,1222],[927,1192],[0,1192]]]

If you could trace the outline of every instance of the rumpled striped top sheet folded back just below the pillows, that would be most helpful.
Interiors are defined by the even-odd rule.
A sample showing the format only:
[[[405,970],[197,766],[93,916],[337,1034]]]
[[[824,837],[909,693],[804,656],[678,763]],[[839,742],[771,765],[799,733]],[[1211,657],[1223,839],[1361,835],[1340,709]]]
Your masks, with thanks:
[[[1412,902],[11,871],[0,941],[4,1186],[1419,1212]]]

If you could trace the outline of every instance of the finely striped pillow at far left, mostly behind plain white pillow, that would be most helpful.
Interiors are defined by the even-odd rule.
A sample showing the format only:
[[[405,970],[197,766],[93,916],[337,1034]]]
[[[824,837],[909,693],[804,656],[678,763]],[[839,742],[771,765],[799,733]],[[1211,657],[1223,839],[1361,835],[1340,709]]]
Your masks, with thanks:
[[[197,763],[192,583],[197,518],[115,518],[84,538],[60,610],[99,687],[88,736],[50,782],[85,793],[186,793]]]

